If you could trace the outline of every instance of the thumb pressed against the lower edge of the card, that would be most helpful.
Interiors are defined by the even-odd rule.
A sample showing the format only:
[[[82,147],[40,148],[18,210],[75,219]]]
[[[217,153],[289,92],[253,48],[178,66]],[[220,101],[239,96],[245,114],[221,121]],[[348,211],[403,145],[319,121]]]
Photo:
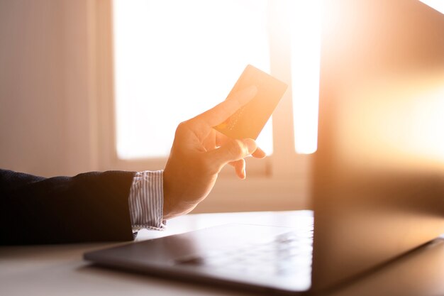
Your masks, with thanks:
[[[219,170],[232,161],[240,160],[252,154],[257,149],[256,141],[252,138],[243,140],[231,139],[223,144],[223,146],[211,150],[207,153],[211,163],[216,165]]]

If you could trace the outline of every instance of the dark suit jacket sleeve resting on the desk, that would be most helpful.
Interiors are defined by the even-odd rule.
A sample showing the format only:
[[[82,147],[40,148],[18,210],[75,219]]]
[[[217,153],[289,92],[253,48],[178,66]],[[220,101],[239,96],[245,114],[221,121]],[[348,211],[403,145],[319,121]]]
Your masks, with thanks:
[[[0,170],[0,243],[133,239],[133,176],[111,171],[45,178]]]

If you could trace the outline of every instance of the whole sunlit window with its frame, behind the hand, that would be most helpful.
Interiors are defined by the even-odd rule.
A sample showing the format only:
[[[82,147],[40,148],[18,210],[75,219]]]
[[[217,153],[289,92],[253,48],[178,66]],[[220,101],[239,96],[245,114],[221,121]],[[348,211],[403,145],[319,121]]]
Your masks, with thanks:
[[[306,207],[311,157],[301,153],[316,150],[319,0],[113,0],[98,10],[109,13],[98,31],[110,34],[98,44],[104,168],[163,168],[177,124],[225,99],[252,64],[290,85],[258,138],[270,157],[249,158],[242,182],[227,168],[201,210]]]

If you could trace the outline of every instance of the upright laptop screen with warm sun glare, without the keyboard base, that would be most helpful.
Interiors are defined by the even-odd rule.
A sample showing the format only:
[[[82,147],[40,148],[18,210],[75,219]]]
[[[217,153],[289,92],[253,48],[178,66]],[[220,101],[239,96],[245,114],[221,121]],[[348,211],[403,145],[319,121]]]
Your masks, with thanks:
[[[416,0],[326,1],[313,286],[444,232],[444,16]]]

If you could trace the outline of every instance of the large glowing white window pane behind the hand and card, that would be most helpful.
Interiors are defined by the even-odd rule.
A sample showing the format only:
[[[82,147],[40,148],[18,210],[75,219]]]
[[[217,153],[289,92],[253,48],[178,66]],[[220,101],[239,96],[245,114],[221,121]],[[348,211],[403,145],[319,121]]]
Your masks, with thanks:
[[[118,158],[167,156],[177,124],[223,101],[247,64],[270,72],[266,0],[114,0],[113,25]]]

